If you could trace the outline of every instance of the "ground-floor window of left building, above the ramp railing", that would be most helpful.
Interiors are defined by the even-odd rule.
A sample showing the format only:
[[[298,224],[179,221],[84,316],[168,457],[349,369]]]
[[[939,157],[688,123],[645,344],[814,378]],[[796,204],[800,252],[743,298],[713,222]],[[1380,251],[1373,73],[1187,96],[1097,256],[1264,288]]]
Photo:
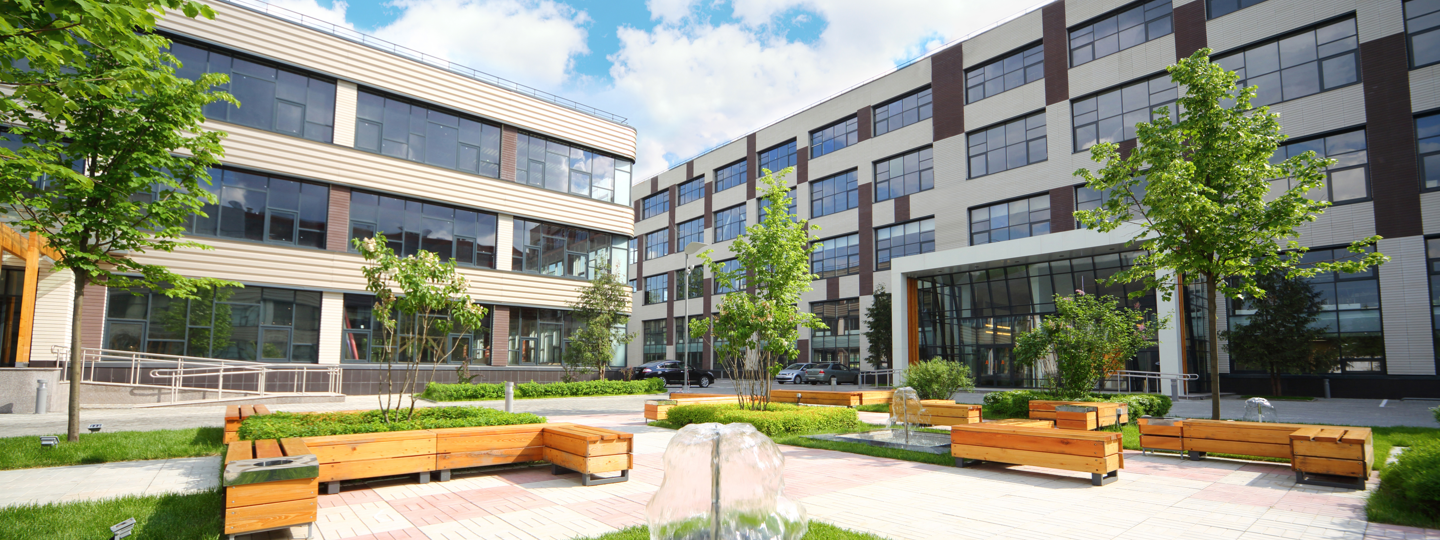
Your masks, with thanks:
[[[105,347],[252,361],[318,361],[320,292],[216,287],[193,300],[109,289]]]

